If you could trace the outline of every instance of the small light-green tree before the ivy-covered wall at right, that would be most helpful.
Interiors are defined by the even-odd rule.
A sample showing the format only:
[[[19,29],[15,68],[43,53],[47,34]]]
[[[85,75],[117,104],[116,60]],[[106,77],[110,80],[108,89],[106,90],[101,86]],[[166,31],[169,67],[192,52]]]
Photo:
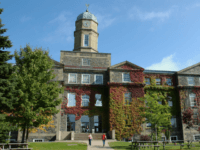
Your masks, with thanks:
[[[161,130],[168,129],[171,126],[170,119],[172,115],[166,97],[162,92],[148,91],[143,98],[146,101],[146,122],[151,123],[152,140],[158,140],[157,137],[160,135]]]

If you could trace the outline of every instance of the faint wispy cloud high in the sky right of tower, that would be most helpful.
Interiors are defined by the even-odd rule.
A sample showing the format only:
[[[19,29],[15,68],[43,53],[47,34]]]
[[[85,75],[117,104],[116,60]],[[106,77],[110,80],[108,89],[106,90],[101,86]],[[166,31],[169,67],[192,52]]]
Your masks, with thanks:
[[[172,10],[167,10],[167,11],[163,11],[163,12],[142,12],[140,9],[138,9],[137,7],[133,7],[130,11],[129,11],[129,17],[131,19],[140,19],[142,21],[146,21],[146,20],[152,20],[152,19],[159,19],[161,21],[164,21],[165,19],[169,18],[171,15]]]

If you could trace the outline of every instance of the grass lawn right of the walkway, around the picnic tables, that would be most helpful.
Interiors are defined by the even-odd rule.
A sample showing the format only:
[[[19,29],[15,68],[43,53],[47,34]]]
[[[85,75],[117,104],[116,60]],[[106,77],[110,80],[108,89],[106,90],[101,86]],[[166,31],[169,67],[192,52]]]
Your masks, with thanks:
[[[131,145],[131,143],[129,143],[129,142],[109,142],[108,144],[114,150],[131,150],[131,146],[129,146],[129,145]],[[184,143],[184,144],[187,144],[187,143]],[[163,150],[162,144],[159,144],[159,145],[161,145],[159,147],[159,150]],[[197,143],[197,142],[192,143],[192,145],[194,145],[195,147],[190,148],[190,150],[200,150],[199,143]],[[154,148],[141,148],[141,150],[143,150],[143,149],[144,150],[154,150]],[[165,149],[166,150],[176,150],[176,149],[180,150],[180,144],[176,144],[176,146],[174,146],[174,144],[170,143],[165,146]],[[182,150],[189,150],[189,149],[187,148],[187,146],[184,146],[182,148]]]

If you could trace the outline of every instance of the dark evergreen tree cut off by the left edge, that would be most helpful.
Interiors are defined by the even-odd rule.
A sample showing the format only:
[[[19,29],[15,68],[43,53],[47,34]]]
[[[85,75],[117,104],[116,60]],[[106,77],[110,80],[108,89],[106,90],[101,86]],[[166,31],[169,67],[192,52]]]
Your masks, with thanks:
[[[0,9],[0,14],[2,12],[3,9]],[[9,51],[4,51],[5,48],[12,47],[12,43],[8,36],[2,36],[7,31],[7,29],[1,29],[3,26],[0,18],[0,143],[10,138],[9,131],[17,130],[8,122],[9,116],[5,112],[9,113],[13,109],[13,103],[18,100],[15,95],[19,94],[19,90],[16,90],[15,79],[11,79],[11,74],[16,68],[6,62],[12,59],[13,55],[10,55]]]

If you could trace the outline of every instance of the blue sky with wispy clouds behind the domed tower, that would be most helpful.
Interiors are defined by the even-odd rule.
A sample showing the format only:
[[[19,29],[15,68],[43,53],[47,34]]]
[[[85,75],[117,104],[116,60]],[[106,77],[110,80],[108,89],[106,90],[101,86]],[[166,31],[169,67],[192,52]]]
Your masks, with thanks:
[[[30,44],[60,62],[60,51],[74,48],[75,21],[85,4],[99,23],[98,51],[111,53],[111,65],[127,60],[179,71],[200,62],[199,0],[1,0],[3,35],[13,44],[6,50],[13,54]]]

